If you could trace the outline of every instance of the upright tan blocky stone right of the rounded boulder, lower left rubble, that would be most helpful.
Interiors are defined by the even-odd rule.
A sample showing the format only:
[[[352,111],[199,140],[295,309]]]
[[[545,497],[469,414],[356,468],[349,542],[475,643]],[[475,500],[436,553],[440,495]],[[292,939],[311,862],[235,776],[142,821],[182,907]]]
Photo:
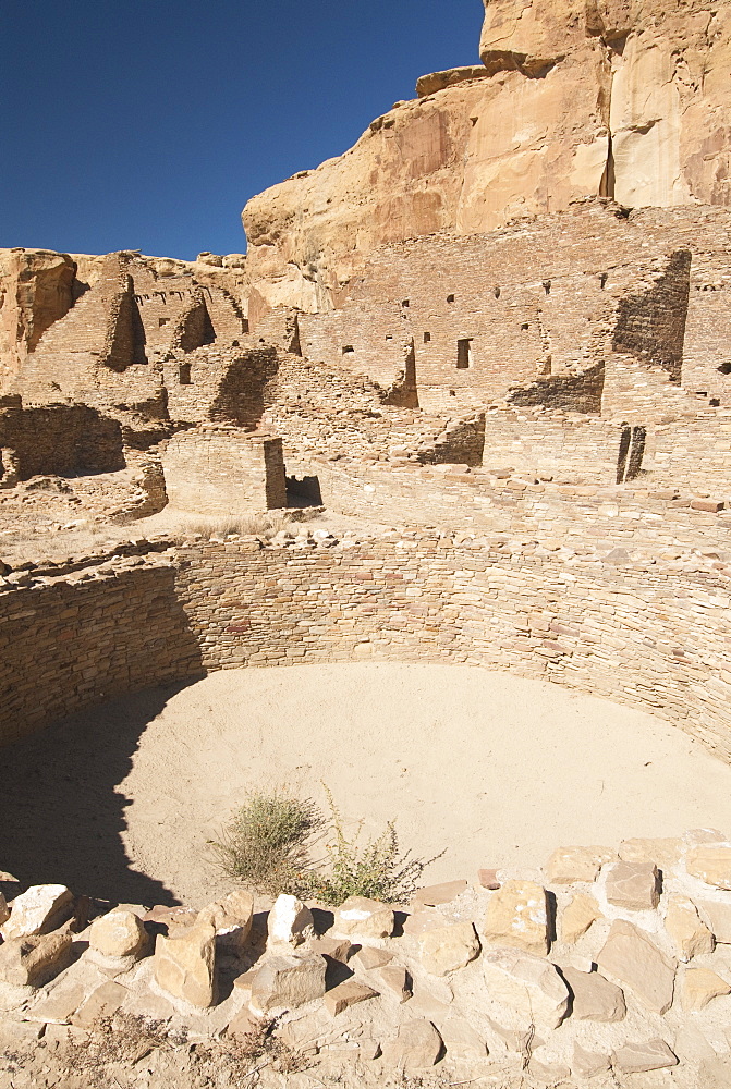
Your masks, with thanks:
[[[216,929],[197,922],[175,938],[159,937],[155,979],[174,999],[205,1008],[214,1002]]]

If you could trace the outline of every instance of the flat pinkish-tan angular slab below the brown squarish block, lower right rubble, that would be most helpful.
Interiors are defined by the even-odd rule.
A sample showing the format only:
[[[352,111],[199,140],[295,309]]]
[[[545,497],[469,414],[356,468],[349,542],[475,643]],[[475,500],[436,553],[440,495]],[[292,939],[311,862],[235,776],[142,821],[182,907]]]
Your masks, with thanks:
[[[632,991],[648,1010],[663,1014],[670,1008],[677,963],[631,922],[612,922],[597,964],[605,976]]]

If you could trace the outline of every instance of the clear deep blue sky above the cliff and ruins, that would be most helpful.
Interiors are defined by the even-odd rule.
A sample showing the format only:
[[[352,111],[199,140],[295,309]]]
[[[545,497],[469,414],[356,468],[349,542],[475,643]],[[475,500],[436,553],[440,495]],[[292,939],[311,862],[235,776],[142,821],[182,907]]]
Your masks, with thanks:
[[[478,62],[482,0],[4,0],[0,246],[244,248],[249,196]]]

